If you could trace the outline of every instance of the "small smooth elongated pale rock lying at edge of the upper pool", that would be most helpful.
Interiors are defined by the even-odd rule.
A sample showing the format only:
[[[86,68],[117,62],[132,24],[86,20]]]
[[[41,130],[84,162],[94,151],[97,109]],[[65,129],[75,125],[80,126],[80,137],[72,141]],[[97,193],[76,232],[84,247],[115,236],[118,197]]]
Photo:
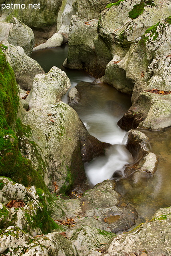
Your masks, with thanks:
[[[62,34],[60,33],[55,33],[51,38],[49,38],[44,44],[39,44],[38,46],[34,47],[33,50],[42,50],[46,48],[53,48],[57,46],[61,46],[63,43],[64,39]]]

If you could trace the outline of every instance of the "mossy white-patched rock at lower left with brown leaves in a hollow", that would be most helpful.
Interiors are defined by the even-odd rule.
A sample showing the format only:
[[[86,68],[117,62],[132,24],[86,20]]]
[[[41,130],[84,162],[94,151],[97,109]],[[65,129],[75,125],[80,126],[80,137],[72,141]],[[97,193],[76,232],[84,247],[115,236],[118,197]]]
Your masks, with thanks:
[[[14,225],[32,236],[60,229],[50,217],[46,205],[46,200],[50,197],[45,195],[43,190],[36,190],[34,186],[28,189],[22,184],[8,180],[8,178],[0,178],[0,182],[3,184],[3,188],[0,190],[0,203],[3,204],[0,209],[1,229]],[[14,206],[15,208],[7,209],[6,204],[14,199],[22,200],[25,206],[21,208]]]

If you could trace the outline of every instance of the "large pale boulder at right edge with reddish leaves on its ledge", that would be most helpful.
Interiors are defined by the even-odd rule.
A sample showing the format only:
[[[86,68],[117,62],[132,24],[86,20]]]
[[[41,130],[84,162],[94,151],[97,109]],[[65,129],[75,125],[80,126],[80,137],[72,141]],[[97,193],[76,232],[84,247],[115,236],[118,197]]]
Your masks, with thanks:
[[[123,76],[125,72],[126,78],[135,83],[133,105],[118,122],[121,128],[155,130],[171,125],[170,35],[170,18],[166,18],[149,28],[123,60],[109,67],[113,74],[119,70]]]

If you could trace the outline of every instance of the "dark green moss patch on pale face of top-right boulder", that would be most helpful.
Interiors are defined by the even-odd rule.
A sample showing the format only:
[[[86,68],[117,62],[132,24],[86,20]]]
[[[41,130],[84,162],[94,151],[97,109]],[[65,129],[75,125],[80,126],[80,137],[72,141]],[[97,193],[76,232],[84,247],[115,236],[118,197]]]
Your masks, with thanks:
[[[142,1],[139,4],[135,4],[133,9],[129,12],[129,18],[138,18],[139,15],[143,14],[145,6],[154,6],[154,3],[153,1]]]

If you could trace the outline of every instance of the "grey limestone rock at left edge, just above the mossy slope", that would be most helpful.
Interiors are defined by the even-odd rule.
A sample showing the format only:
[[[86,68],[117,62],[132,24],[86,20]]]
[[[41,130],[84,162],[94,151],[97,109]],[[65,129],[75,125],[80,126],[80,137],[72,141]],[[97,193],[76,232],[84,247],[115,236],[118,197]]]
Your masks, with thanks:
[[[36,74],[44,73],[44,70],[36,60],[33,60],[24,53],[22,47],[13,46],[6,40],[2,41],[2,44],[8,47],[7,50],[3,51],[10,66],[14,70],[16,81],[21,88],[26,90],[31,89],[34,76]]]

